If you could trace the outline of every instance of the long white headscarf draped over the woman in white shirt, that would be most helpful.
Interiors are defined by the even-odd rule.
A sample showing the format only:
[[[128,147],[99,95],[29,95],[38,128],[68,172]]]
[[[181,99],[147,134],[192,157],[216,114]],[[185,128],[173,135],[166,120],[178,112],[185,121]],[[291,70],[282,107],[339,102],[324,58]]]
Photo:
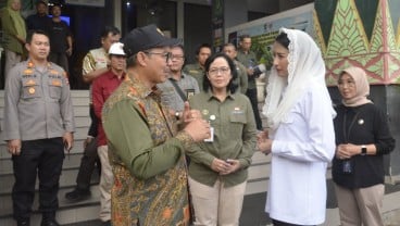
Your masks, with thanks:
[[[310,86],[321,89],[324,93],[321,97],[322,100],[332,105],[325,84],[325,63],[314,40],[307,33],[298,29],[280,28],[280,33],[287,34],[290,40],[287,56],[288,77],[278,76],[275,66],[272,67],[263,106],[263,114],[267,118],[267,127],[271,131],[276,130],[282,122],[287,121],[289,111]],[[335,117],[336,112],[333,108],[330,112]]]

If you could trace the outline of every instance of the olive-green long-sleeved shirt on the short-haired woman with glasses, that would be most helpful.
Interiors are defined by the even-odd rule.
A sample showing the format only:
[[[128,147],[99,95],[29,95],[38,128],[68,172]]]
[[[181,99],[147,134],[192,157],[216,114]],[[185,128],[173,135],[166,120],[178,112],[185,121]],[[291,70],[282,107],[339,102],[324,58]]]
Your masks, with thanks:
[[[195,95],[189,102],[190,108],[200,110],[203,120],[209,121],[214,128],[213,142],[196,143],[187,150],[191,159],[189,176],[208,186],[213,186],[217,178],[224,181],[225,187],[246,181],[257,142],[254,115],[249,99],[235,92],[220,102],[209,91]],[[239,160],[241,168],[220,176],[211,170],[214,158]]]

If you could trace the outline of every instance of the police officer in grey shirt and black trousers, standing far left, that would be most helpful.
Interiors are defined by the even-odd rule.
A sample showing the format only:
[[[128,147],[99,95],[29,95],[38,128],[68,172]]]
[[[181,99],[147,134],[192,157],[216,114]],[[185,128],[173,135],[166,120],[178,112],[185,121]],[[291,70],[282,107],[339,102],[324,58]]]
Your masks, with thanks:
[[[28,60],[11,68],[4,97],[4,140],[15,177],[14,218],[18,226],[29,225],[38,176],[41,226],[58,226],[64,148],[73,147],[75,129],[70,85],[65,72],[47,61],[50,43],[45,32],[30,30],[25,47]]]

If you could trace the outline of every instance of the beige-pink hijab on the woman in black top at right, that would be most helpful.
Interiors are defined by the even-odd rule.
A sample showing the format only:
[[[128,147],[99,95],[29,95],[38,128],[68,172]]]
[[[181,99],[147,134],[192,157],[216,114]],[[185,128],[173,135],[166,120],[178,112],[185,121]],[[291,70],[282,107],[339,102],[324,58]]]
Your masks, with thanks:
[[[365,103],[372,103],[366,97],[370,96],[370,84],[364,70],[355,66],[348,67],[340,73],[339,79],[343,73],[349,74],[355,84],[357,93],[349,100],[342,99],[341,102],[346,106],[359,106]]]

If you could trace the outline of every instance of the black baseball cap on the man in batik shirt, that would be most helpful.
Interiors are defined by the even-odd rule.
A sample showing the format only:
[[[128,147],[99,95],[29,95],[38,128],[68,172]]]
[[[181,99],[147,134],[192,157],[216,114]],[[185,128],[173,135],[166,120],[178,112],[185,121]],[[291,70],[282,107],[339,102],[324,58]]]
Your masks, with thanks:
[[[127,58],[151,48],[170,47],[180,43],[178,39],[165,37],[154,24],[130,30],[122,42],[124,43],[124,52]]]

